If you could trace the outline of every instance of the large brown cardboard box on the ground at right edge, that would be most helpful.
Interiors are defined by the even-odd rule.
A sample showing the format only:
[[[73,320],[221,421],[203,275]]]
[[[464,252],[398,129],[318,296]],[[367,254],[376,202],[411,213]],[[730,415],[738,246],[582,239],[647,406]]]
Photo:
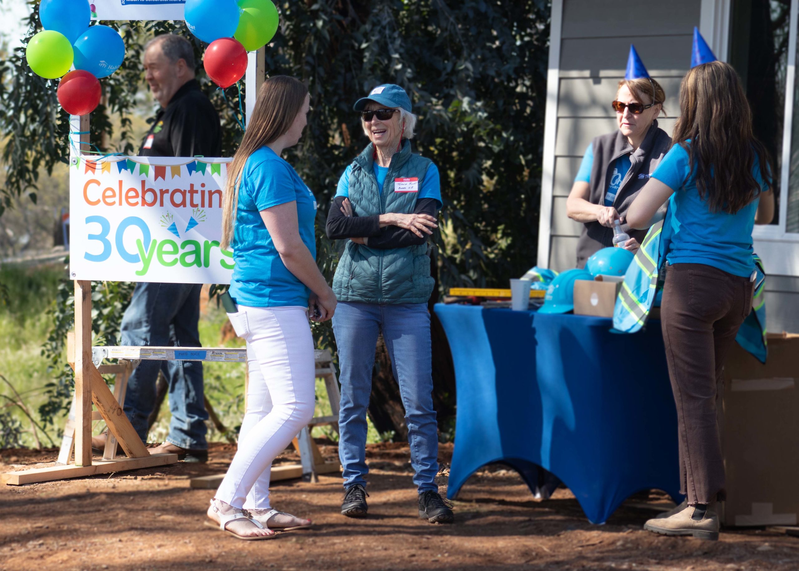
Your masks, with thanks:
[[[797,525],[799,336],[769,336],[761,365],[737,343],[719,414],[727,500],[724,525]]]

